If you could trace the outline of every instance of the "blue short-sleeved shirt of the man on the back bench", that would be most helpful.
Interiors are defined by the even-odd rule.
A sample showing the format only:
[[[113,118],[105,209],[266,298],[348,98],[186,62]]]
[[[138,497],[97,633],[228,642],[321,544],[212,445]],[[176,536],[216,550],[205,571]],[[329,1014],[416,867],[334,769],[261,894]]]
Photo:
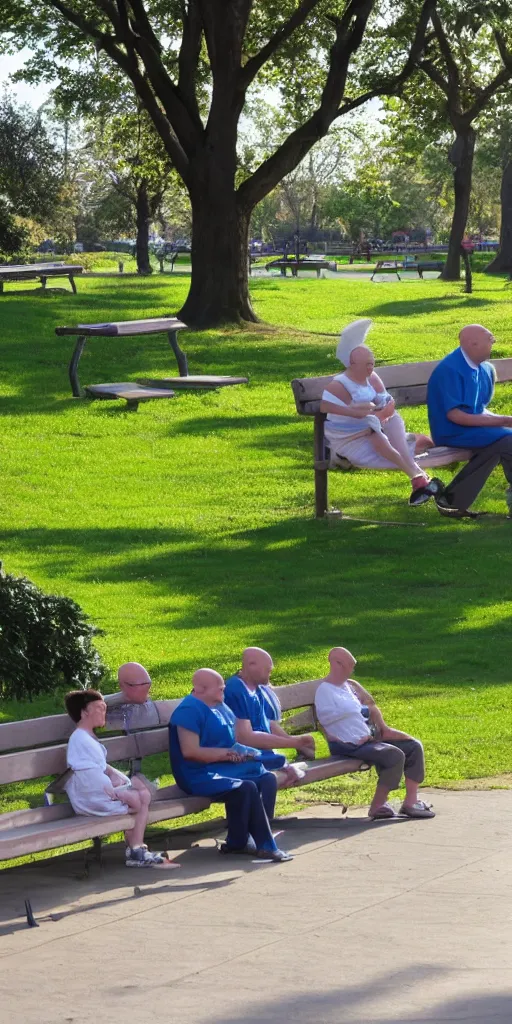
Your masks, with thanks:
[[[463,427],[447,418],[452,409],[476,415],[484,413],[494,389],[489,362],[480,362],[473,370],[460,348],[441,359],[427,387],[428,420],[434,443],[479,449],[512,434],[508,427]]]

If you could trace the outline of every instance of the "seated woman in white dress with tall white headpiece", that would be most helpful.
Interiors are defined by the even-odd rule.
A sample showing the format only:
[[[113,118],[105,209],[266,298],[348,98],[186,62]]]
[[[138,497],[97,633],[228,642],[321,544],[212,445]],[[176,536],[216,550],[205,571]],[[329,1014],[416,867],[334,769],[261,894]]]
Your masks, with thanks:
[[[341,332],[336,356],[346,369],[325,388],[321,402],[326,440],[353,466],[400,469],[411,480],[410,504],[421,505],[437,493],[439,481],[430,480],[414,457],[433,442],[425,434],[407,433],[365,344],[371,326],[371,319],[354,321]]]

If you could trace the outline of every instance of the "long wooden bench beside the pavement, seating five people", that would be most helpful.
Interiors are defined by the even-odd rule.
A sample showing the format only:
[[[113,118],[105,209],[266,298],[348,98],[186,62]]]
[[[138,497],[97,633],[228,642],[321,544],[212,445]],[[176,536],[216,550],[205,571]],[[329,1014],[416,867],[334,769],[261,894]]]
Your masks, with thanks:
[[[286,724],[297,730],[316,728],[313,700],[319,682],[312,680],[279,687],[284,711],[303,709]],[[110,763],[128,762],[130,771],[138,772],[144,758],[168,751],[168,723],[179,699],[126,705],[120,693],[108,695],[105,699],[108,726],[101,742],[106,746]],[[30,781],[34,783],[31,798],[37,792],[40,796],[40,806],[0,814],[0,861],[87,840],[93,840],[98,853],[103,837],[133,826],[130,814],[92,817],[75,814],[68,802],[49,803],[51,796],[48,798],[48,794],[58,791],[58,784],[52,783],[50,778],[66,771],[66,745],[73,728],[68,715],[0,725],[0,787]],[[367,768],[361,761],[322,758],[308,763],[306,777],[299,784]],[[276,775],[278,784],[282,785],[283,773],[278,771]],[[206,797],[187,796],[177,785],[162,786],[152,800],[150,823],[197,814],[206,810],[210,803]]]

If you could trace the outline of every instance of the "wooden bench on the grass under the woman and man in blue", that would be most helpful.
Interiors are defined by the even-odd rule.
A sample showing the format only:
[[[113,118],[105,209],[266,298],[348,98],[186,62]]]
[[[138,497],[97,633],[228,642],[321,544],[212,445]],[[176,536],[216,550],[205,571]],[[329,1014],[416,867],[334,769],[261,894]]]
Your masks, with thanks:
[[[512,358],[492,359],[496,369],[497,382],[512,381]],[[379,377],[393,396],[397,406],[424,406],[427,400],[428,379],[439,360],[431,362],[403,362],[397,366],[377,367]],[[321,413],[324,388],[333,380],[327,377],[304,377],[292,381],[297,412],[301,416],[314,417],[313,468],[314,506],[317,519],[322,519],[329,509],[328,470],[353,469],[348,459],[332,453],[324,434],[326,414]],[[467,462],[472,453],[466,449],[433,447],[424,455],[416,456],[418,465],[425,468],[450,466],[457,462]]]

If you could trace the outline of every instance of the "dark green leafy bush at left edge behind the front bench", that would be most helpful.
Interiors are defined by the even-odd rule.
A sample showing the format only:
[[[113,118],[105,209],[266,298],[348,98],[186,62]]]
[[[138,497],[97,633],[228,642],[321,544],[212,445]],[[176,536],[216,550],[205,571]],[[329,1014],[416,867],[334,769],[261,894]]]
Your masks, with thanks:
[[[0,571],[0,696],[97,686],[106,671],[93,644],[101,632],[70,598]]]

